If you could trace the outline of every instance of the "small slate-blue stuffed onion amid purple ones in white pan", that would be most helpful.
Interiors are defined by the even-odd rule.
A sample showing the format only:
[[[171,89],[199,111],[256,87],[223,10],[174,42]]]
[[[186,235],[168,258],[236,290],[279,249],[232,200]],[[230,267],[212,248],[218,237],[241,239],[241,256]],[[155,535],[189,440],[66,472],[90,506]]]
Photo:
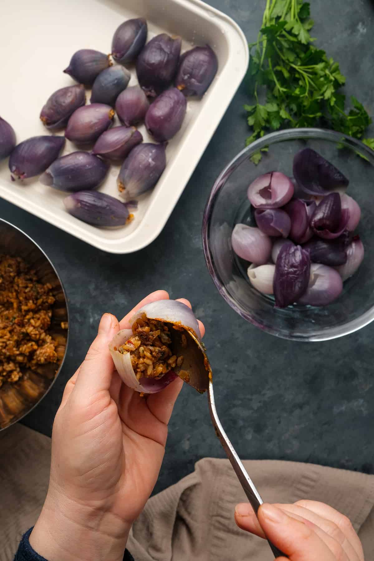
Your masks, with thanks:
[[[123,66],[110,66],[100,72],[91,92],[91,103],[104,103],[114,107],[121,91],[126,90],[131,74]]]

